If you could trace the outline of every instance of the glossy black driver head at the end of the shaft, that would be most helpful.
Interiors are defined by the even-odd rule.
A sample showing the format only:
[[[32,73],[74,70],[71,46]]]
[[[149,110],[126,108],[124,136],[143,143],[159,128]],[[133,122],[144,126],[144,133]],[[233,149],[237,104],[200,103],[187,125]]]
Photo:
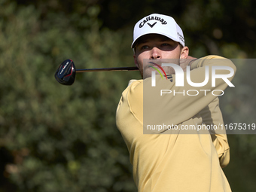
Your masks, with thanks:
[[[72,85],[75,81],[75,64],[71,59],[63,61],[55,73],[56,81],[63,85]]]

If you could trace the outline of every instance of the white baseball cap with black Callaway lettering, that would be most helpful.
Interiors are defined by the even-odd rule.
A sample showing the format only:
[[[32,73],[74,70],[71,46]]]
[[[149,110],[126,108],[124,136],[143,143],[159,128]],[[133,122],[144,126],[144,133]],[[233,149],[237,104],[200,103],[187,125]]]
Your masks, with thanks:
[[[133,44],[131,47],[134,48],[136,41],[143,35],[152,33],[164,35],[180,43],[183,47],[185,46],[183,32],[172,17],[163,14],[151,14],[139,20],[134,26]]]

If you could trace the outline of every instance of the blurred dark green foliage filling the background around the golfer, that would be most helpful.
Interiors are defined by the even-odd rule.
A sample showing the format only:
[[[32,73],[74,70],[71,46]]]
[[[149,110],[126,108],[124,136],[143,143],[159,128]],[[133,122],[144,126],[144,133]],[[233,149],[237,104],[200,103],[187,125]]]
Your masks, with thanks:
[[[115,110],[139,73],[78,74],[65,87],[57,67],[133,66],[133,25],[154,12],[175,17],[191,56],[254,58],[255,8],[253,0],[0,1],[0,191],[136,191]],[[243,88],[221,98],[224,120],[256,123],[256,67],[237,68]],[[230,185],[254,191],[255,136],[228,139]]]

